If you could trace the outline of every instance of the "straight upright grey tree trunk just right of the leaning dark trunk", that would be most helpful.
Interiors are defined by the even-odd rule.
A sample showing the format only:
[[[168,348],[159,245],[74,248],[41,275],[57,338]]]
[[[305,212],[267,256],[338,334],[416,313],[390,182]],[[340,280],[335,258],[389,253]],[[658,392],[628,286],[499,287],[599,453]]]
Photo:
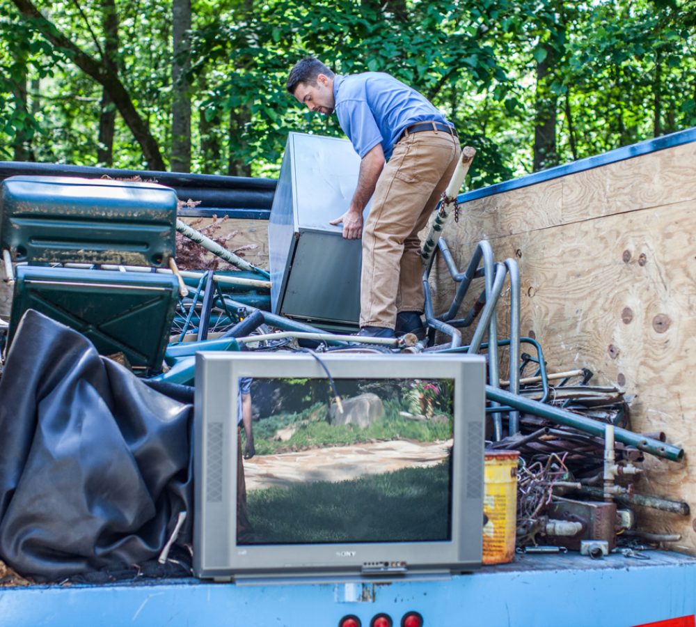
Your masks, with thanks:
[[[174,172],[191,171],[191,91],[188,73],[191,69],[189,33],[191,31],[191,0],[172,2],[172,152]]]

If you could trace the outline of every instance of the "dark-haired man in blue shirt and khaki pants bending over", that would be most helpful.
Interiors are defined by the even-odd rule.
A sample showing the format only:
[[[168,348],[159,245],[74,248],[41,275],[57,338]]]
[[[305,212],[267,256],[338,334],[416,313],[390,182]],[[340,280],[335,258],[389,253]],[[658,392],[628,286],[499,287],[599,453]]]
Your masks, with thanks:
[[[344,238],[363,238],[358,335],[425,336],[418,232],[457,165],[457,132],[420,93],[381,72],[335,75],[308,57],[290,71],[287,91],[310,111],[335,111],[361,157],[350,206],[331,221],[343,224]]]

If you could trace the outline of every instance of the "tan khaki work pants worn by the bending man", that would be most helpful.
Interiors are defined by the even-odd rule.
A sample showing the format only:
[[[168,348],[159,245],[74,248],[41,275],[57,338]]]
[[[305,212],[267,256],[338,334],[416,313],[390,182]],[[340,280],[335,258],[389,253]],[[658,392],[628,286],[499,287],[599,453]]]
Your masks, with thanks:
[[[443,131],[409,134],[394,146],[363,229],[360,325],[393,329],[400,311],[422,313],[418,232],[445,191],[461,149]]]

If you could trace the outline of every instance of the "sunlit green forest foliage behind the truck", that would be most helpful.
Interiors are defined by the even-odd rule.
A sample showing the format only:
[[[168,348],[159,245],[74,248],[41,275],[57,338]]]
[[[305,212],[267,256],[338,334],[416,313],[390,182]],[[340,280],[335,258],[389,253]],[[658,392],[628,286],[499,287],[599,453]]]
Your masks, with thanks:
[[[103,3],[36,6],[94,59]],[[377,70],[417,88],[478,150],[468,185],[532,168],[539,111],[560,162],[696,125],[694,0],[196,0],[191,33],[193,169],[277,176],[291,130],[341,135],[335,117],[285,92],[313,54],[340,73]],[[171,6],[116,0],[115,60],[162,153],[171,139]],[[95,164],[102,86],[0,0],[0,158]],[[543,88],[536,70],[548,64]],[[114,165],[145,167],[120,116]],[[28,157],[28,158],[29,158]]]

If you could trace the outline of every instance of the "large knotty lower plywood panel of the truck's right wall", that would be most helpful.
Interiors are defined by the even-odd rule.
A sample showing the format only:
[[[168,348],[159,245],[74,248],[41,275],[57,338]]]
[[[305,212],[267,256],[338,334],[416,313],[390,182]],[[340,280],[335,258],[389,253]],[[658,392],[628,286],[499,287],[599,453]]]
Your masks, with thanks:
[[[463,268],[474,245],[461,231],[445,238]],[[696,201],[490,241],[497,261],[520,263],[521,331],[539,339],[549,368],[587,367],[593,382],[635,394],[634,430],[664,431],[686,449],[683,465],[649,460],[642,491],[686,500],[696,512]],[[438,265],[439,311],[452,297],[448,277]],[[692,518],[642,516],[646,529],[682,534],[678,547],[696,553]]]

